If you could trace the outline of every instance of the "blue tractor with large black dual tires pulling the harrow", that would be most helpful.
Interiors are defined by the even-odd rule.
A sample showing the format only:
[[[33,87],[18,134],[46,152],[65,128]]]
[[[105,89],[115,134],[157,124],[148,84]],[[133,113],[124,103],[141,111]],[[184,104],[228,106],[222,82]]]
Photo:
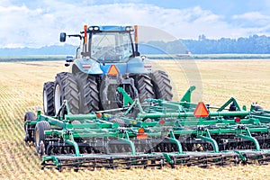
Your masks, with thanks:
[[[43,109],[46,115],[56,115],[67,100],[69,111],[89,113],[124,106],[122,87],[132,99],[171,100],[172,86],[166,72],[152,72],[150,61],[139,55],[138,26],[89,26],[79,34],[60,33],[78,37],[76,58],[67,57],[71,72],[61,72],[55,81],[43,85]],[[134,41],[134,42],[133,42]]]

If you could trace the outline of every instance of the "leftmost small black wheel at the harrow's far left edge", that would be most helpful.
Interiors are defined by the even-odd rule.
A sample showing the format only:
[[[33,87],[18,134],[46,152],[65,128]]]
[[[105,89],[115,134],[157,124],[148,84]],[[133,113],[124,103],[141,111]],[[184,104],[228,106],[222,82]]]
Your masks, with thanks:
[[[24,115],[24,121],[36,121],[37,117],[34,112],[26,112]],[[25,142],[33,142],[33,129],[35,125],[25,125],[24,124],[24,131],[25,131]]]

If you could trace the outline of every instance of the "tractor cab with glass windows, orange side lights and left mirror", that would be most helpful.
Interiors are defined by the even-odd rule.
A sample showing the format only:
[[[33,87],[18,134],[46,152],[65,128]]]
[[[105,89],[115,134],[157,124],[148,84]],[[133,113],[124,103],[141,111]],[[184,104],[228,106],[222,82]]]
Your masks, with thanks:
[[[132,33],[135,31],[135,45]],[[99,63],[127,62],[130,58],[139,55],[137,45],[137,26],[90,26],[85,25],[81,34],[60,34],[60,41],[68,37],[79,37],[80,47],[77,49],[76,58],[92,58]]]

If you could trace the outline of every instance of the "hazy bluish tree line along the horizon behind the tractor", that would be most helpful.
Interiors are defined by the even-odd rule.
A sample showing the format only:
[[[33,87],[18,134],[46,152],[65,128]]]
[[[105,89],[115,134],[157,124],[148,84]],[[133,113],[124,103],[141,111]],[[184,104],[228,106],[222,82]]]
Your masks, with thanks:
[[[22,55],[72,55],[77,46],[45,46],[40,49],[0,49],[0,56]],[[252,35],[247,38],[220,38],[211,40],[200,35],[198,40],[148,41],[139,42],[140,54],[270,54],[270,37]]]

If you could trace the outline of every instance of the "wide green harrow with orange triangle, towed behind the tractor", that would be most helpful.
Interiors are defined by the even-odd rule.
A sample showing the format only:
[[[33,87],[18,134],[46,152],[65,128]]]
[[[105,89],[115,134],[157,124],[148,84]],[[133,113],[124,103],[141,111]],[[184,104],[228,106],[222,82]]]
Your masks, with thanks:
[[[55,116],[26,112],[25,142],[33,142],[42,168],[132,168],[265,165],[270,161],[270,111],[191,103],[191,86],[180,101],[132,100],[123,106],[72,114],[64,101]]]

